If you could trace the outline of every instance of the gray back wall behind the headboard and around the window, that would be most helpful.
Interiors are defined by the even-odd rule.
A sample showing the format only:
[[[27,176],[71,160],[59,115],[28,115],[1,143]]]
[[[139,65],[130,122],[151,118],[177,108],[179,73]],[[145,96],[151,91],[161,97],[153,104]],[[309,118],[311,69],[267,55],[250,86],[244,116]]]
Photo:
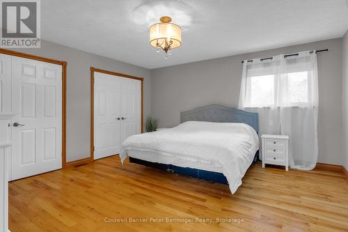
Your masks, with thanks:
[[[341,164],[342,144],[342,39],[299,44],[280,49],[228,56],[151,70],[151,115],[159,126],[180,123],[180,112],[211,103],[237,106],[242,76],[241,60],[313,49],[319,53],[319,160]]]

